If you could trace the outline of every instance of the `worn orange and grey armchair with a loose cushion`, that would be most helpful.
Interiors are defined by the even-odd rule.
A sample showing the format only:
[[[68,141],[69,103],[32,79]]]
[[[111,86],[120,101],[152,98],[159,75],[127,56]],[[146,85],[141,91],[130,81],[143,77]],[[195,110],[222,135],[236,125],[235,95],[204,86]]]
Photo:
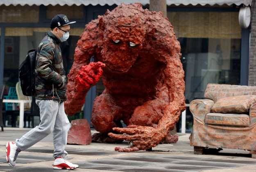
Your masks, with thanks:
[[[190,103],[194,154],[230,148],[249,150],[256,158],[256,86],[208,84],[204,97]]]

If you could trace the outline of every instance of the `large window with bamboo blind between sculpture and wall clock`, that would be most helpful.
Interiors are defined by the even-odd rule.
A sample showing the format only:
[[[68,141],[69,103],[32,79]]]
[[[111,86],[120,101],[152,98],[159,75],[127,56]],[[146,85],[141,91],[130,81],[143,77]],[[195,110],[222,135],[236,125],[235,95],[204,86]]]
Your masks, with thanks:
[[[240,84],[241,27],[238,12],[168,12],[181,45],[185,98],[204,99],[207,84]],[[186,132],[193,116],[186,108]],[[181,120],[177,124],[180,132]]]

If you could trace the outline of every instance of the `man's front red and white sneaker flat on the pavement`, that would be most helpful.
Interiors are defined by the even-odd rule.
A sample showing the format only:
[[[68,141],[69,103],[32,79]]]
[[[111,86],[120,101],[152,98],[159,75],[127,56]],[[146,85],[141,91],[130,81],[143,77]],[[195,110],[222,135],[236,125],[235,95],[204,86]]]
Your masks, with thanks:
[[[58,158],[55,158],[54,160],[54,163],[53,163],[53,169],[57,169],[57,170],[60,170],[60,169],[67,169],[67,170],[72,170],[72,169],[75,169],[78,167],[78,165],[76,164],[72,164],[70,162],[68,162],[67,160],[67,157],[58,157]]]

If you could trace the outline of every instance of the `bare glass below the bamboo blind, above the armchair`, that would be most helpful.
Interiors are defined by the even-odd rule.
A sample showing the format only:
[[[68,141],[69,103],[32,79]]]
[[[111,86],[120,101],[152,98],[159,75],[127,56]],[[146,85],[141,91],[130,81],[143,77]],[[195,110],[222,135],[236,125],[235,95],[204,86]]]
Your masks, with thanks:
[[[207,84],[240,84],[240,39],[179,38],[188,102],[204,98]]]

